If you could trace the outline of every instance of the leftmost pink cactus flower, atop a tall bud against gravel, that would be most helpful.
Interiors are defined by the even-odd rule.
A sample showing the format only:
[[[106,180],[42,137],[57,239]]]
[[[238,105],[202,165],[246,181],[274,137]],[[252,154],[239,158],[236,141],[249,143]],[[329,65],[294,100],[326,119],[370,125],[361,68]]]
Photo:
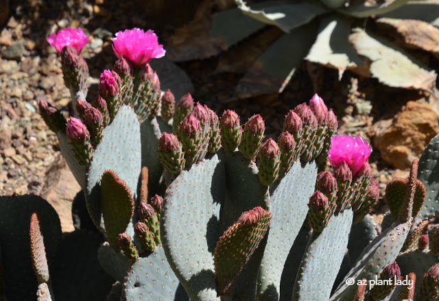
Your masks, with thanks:
[[[88,43],[88,36],[85,36],[81,28],[64,28],[61,29],[58,34],[51,34],[47,38],[47,42],[55,47],[58,53],[61,53],[62,48],[65,46],[70,46],[76,49],[78,53],[81,52],[82,48]]]

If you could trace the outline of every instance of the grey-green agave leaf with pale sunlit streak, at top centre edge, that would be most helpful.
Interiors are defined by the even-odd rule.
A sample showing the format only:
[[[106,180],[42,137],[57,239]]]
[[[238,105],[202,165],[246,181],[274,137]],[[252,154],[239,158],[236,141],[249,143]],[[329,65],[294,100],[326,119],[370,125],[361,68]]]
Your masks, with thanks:
[[[252,10],[243,0],[235,0],[238,8],[263,23],[275,25],[284,32],[290,32],[292,29],[306,24],[316,16],[324,14],[328,10],[322,5],[316,3],[278,3],[273,2],[260,3],[261,10]],[[264,6],[263,6],[264,5]]]

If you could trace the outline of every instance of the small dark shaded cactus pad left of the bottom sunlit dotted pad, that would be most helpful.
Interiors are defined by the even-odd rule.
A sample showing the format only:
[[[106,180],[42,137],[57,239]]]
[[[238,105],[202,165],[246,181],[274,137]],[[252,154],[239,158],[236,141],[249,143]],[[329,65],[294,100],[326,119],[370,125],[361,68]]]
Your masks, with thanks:
[[[99,247],[99,250],[97,250],[97,258],[108,275],[119,282],[123,282],[131,266],[126,256],[121,252],[112,250],[110,244],[105,242]]]

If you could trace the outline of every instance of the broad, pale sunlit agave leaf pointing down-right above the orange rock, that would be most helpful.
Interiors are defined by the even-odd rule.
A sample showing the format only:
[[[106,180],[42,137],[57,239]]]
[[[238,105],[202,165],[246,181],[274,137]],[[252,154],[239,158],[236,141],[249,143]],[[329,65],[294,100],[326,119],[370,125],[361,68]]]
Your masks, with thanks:
[[[396,88],[431,91],[436,82],[436,73],[427,71],[410,58],[402,49],[355,28],[349,36],[357,53],[371,61],[370,73],[379,82]]]

